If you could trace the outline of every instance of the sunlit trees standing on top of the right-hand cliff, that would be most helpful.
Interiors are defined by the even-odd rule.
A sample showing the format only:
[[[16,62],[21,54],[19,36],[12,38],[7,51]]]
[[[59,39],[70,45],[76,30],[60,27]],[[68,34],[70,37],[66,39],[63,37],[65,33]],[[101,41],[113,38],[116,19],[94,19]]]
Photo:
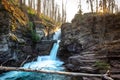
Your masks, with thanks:
[[[88,5],[90,5],[91,12],[98,11],[102,11],[103,13],[118,12],[118,5],[116,4],[115,0],[86,0],[86,2],[88,3]],[[94,8],[95,6],[96,8]]]

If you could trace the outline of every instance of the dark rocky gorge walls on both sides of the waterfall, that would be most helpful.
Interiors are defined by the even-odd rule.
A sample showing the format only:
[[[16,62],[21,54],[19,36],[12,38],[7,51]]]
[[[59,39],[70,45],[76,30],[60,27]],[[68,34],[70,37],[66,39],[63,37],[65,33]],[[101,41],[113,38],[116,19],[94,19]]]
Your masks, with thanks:
[[[64,61],[66,71],[109,72],[115,80],[120,80],[120,13],[78,13],[71,23],[59,27],[25,5],[19,7],[0,0],[0,16],[1,66],[21,67],[35,61],[37,56],[48,55],[56,42],[51,38],[61,28],[58,57]]]

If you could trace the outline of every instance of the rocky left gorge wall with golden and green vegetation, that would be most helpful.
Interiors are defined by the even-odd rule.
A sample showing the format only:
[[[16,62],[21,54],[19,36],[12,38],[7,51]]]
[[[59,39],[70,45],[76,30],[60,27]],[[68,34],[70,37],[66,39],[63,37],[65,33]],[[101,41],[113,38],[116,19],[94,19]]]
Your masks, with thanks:
[[[6,0],[0,1],[0,16],[1,66],[20,67],[38,55],[49,54],[55,42],[50,41],[56,26],[52,21],[39,17],[27,6],[19,8]],[[53,28],[48,32],[50,26]]]

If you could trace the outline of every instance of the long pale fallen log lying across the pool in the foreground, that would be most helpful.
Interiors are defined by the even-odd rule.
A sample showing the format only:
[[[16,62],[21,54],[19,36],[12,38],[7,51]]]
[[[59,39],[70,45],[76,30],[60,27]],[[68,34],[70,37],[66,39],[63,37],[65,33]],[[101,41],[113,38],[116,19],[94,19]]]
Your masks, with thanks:
[[[26,69],[26,68],[22,68],[22,67],[0,66],[0,70],[39,72],[39,73],[59,74],[59,75],[67,75],[67,76],[80,76],[80,77],[100,77],[100,78],[103,77],[103,74],[75,73],[75,72],[63,72],[63,71],[51,71],[51,70],[35,70],[35,69]]]

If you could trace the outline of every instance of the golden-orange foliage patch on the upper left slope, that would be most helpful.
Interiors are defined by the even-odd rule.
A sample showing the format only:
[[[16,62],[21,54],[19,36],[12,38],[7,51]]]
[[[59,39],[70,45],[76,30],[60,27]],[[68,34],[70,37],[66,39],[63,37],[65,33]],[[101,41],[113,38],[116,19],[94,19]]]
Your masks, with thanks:
[[[16,22],[18,21],[21,25],[27,24],[27,17],[25,14],[15,5],[9,3],[7,0],[2,0],[2,4],[5,7],[5,9],[12,14],[12,26],[16,26]]]

